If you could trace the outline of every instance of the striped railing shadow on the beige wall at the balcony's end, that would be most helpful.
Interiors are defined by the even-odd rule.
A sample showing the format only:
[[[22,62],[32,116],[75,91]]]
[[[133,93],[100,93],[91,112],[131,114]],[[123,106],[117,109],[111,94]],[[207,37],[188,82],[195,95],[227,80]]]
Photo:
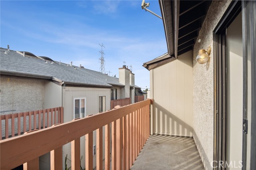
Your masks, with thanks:
[[[192,114],[192,113],[191,113]],[[190,116],[191,117],[191,116]],[[180,118],[166,110],[158,103],[153,104],[153,131],[157,134],[168,134],[176,136],[192,136],[193,127],[186,122],[183,113]],[[192,124],[192,120],[189,120]]]

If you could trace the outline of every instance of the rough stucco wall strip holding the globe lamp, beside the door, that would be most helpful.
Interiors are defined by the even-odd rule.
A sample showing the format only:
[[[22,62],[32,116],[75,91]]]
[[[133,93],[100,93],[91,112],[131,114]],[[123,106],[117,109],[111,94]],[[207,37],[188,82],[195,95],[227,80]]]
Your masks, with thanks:
[[[208,46],[213,49],[213,30],[230,2],[227,0],[212,1],[193,49],[193,136],[206,170],[212,169],[211,162],[213,161],[213,52],[210,54],[210,61],[206,64],[198,64],[196,56],[199,49],[206,49]],[[199,39],[200,43],[198,43]]]

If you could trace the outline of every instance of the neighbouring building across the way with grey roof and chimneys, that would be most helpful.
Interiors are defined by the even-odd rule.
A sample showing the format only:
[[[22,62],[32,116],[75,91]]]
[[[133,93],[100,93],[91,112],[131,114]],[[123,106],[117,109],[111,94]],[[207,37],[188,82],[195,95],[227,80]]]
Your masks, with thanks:
[[[65,123],[109,110],[112,99],[131,97],[134,103],[134,73],[126,66],[119,68],[118,79],[74,66],[72,62],[65,64],[25,51],[0,50],[1,115],[62,106]],[[81,155],[84,157],[83,142]],[[63,160],[66,154],[68,158],[71,156],[68,145],[63,147]],[[84,167],[84,161],[81,164]],[[50,167],[47,154],[41,156],[40,167]]]

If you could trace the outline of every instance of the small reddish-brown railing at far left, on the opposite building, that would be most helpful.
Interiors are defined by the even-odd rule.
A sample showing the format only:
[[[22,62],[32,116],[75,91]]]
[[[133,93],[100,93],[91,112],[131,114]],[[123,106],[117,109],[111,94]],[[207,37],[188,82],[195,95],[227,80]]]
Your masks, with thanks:
[[[63,107],[0,115],[0,140],[63,123]]]

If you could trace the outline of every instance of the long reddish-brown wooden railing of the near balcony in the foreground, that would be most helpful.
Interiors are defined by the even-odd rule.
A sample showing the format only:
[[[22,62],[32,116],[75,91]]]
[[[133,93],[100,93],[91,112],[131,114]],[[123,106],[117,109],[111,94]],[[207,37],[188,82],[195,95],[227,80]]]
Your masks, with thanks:
[[[96,130],[96,169],[110,169],[110,133],[112,170],[128,170],[150,135],[150,103],[146,100],[104,113],[32,131],[0,141],[0,169],[23,164],[38,169],[38,157],[50,152],[51,170],[62,169],[62,146],[71,142],[72,170],[80,169],[80,137],[85,135],[86,170],[93,169],[93,131]],[[111,132],[110,132],[111,124]],[[103,127],[105,148],[103,148]]]

